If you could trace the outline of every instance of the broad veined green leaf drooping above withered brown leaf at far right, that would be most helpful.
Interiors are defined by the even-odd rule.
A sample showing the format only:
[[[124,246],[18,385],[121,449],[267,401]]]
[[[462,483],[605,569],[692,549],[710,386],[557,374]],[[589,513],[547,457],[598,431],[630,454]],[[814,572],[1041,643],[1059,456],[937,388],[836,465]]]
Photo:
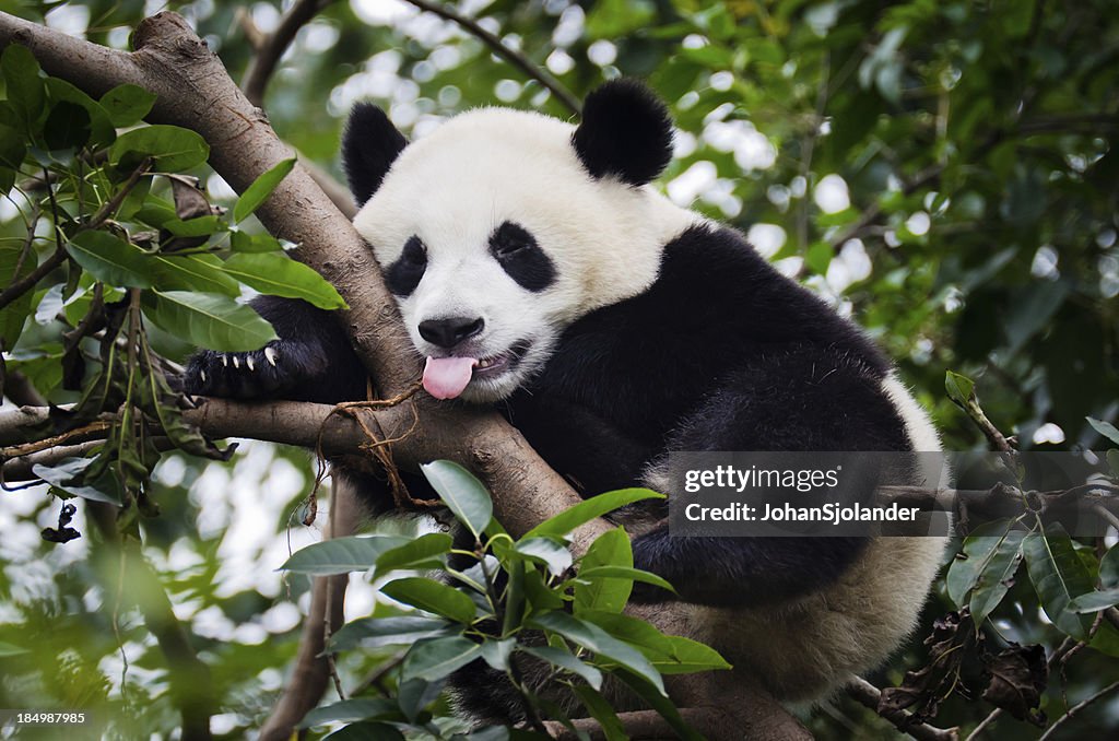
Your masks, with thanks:
[[[1031,533],[1022,542],[1022,548],[1045,615],[1066,635],[1087,640],[1091,619],[1069,611],[1069,606],[1074,598],[1093,591],[1092,580],[1076,555],[1072,538],[1055,527],[1045,534]]]

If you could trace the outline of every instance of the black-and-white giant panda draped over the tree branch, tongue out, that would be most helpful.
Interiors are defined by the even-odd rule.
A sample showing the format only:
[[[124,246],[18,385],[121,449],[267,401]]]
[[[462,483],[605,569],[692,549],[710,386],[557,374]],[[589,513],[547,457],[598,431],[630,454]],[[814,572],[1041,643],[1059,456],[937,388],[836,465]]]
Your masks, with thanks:
[[[670,451],[939,450],[858,328],[739,232],[650,185],[671,151],[665,105],[630,79],[592,92],[577,125],[489,107],[413,143],[380,110],[356,105],[342,141],[354,225],[425,358],[427,393],[495,406],[585,496],[648,486],[671,497]],[[338,322],[295,300],[255,307],[280,339],[199,353],[189,392],[365,398]],[[374,508],[391,506],[382,485],[360,484]],[[615,518],[634,565],[678,597],[639,588],[633,609],[678,600],[678,631],[782,701],[818,698],[894,651],[944,545],[674,538],[656,514]],[[461,690],[467,709],[508,715],[485,684]]]

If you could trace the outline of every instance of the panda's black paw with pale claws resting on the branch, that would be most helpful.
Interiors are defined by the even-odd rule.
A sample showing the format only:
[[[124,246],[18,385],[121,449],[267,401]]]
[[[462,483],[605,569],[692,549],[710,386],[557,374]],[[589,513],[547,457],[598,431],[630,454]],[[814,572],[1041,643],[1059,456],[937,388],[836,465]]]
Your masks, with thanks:
[[[250,353],[200,350],[187,364],[182,388],[198,396],[278,398],[314,382],[311,347],[275,340]],[[310,363],[308,360],[311,360]]]

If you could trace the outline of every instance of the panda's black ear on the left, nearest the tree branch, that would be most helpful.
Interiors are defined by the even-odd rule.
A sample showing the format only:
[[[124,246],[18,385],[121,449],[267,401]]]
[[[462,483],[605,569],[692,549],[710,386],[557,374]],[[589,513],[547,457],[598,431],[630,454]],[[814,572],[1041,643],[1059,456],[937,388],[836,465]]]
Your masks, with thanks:
[[[407,147],[385,112],[372,103],[357,103],[342,134],[342,167],[357,205],[377,191],[397,154]]]

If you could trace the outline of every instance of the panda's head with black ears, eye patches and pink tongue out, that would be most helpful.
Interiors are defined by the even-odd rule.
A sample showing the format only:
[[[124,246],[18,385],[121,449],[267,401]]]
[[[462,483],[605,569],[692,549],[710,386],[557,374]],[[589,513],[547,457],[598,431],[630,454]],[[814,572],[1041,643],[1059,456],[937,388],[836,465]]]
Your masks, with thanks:
[[[432,395],[508,396],[571,322],[651,284],[686,214],[647,187],[671,139],[664,104],[627,79],[591,93],[579,126],[480,109],[411,144],[379,109],[354,109],[354,224],[427,358]]]

